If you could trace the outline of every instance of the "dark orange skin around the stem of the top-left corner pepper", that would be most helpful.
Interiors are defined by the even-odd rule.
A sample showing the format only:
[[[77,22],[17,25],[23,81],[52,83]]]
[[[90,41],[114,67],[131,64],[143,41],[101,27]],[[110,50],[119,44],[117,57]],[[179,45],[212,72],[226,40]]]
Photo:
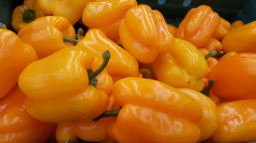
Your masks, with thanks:
[[[38,7],[37,0],[25,0],[22,6],[17,6],[12,12],[12,27],[18,32],[27,22],[23,21],[24,6],[35,12],[35,18],[46,16]]]

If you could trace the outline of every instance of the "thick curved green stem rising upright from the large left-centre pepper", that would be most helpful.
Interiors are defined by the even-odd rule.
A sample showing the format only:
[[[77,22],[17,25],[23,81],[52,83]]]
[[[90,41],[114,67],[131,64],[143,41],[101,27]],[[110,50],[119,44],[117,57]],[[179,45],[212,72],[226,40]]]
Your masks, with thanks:
[[[109,50],[106,50],[102,53],[103,62],[101,63],[101,65],[95,72],[92,72],[89,75],[89,82],[92,81],[93,78],[95,78],[97,75],[99,75],[105,69],[106,65],[108,65],[108,63],[110,61],[110,57],[111,57],[111,54],[110,54]]]

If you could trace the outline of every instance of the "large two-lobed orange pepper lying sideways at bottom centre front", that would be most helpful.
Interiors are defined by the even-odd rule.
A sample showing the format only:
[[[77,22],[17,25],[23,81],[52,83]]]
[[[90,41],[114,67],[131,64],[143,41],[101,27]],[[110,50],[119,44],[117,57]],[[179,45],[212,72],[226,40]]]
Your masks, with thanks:
[[[119,143],[196,142],[200,137],[200,105],[167,84],[127,77],[114,84],[113,95],[122,106],[113,127]]]

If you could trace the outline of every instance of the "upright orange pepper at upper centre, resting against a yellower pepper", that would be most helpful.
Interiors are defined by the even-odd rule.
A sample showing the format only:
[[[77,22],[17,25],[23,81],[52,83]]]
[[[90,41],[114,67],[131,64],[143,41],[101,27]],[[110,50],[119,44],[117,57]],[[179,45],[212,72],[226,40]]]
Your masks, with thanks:
[[[168,52],[174,45],[162,14],[147,5],[127,11],[119,27],[122,46],[139,62],[151,63],[159,53]]]

